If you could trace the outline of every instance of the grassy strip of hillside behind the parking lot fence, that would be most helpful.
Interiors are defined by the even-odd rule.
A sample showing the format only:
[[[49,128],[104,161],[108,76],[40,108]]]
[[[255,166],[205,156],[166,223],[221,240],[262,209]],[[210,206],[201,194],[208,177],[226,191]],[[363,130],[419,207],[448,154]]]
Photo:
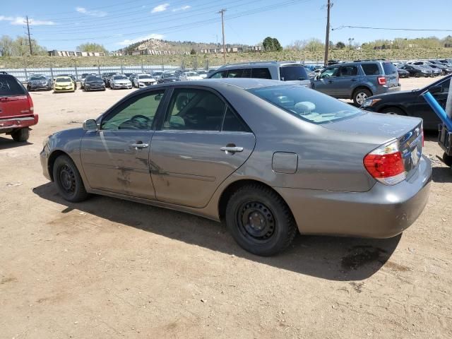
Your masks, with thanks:
[[[452,48],[436,49],[386,49],[386,50],[332,50],[329,59],[355,60],[384,58],[391,60],[452,58]],[[323,61],[323,52],[297,52],[283,50],[282,52],[235,53],[226,55],[226,63],[246,61],[292,60],[292,61]],[[156,55],[156,56],[125,56],[125,57],[0,57],[0,69],[23,69],[40,67],[68,66],[136,66],[174,65],[186,68],[220,66],[224,64],[222,54],[196,55]]]

